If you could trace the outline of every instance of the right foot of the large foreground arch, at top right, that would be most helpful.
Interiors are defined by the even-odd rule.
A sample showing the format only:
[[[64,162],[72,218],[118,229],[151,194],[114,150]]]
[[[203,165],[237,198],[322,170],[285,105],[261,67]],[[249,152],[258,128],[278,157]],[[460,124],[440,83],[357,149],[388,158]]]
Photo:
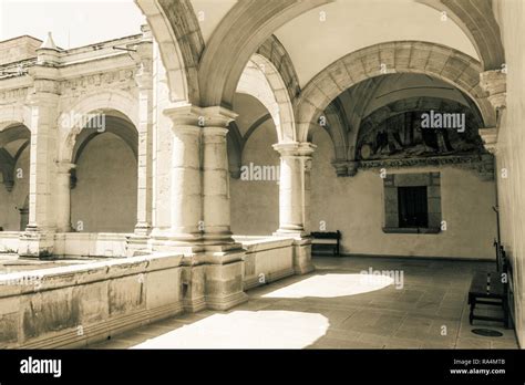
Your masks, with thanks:
[[[492,0],[415,0],[446,12],[471,40],[485,71],[498,70],[505,62],[500,25]]]

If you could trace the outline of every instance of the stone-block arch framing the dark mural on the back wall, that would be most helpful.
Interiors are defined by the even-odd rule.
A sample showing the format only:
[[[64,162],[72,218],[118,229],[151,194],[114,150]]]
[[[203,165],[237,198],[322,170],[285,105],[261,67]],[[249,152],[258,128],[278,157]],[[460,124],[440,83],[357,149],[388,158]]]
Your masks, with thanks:
[[[420,41],[380,43],[352,52],[318,73],[296,100],[298,141],[344,90],[388,73],[422,73],[450,83],[470,96],[484,125],[495,126],[495,111],[480,86],[481,63],[454,49]]]

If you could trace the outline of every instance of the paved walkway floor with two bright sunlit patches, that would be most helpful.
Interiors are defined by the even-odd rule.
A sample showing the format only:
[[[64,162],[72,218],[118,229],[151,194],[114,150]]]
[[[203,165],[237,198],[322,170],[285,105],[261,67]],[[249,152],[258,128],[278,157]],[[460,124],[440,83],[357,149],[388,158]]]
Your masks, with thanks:
[[[492,263],[322,257],[315,264],[313,273],[249,291],[249,302],[227,312],[185,314],[91,347],[517,348],[501,323],[469,324],[472,273]],[[383,270],[397,275],[373,274]],[[481,311],[498,311],[491,308]],[[475,327],[503,336],[480,336]]]

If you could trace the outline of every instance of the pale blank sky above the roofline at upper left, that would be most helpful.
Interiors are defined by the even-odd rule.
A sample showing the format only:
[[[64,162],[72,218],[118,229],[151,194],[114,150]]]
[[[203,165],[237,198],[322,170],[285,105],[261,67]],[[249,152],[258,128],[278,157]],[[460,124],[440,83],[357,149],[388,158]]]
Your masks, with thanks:
[[[133,0],[0,0],[0,41],[52,32],[70,49],[141,33],[145,22]]]

